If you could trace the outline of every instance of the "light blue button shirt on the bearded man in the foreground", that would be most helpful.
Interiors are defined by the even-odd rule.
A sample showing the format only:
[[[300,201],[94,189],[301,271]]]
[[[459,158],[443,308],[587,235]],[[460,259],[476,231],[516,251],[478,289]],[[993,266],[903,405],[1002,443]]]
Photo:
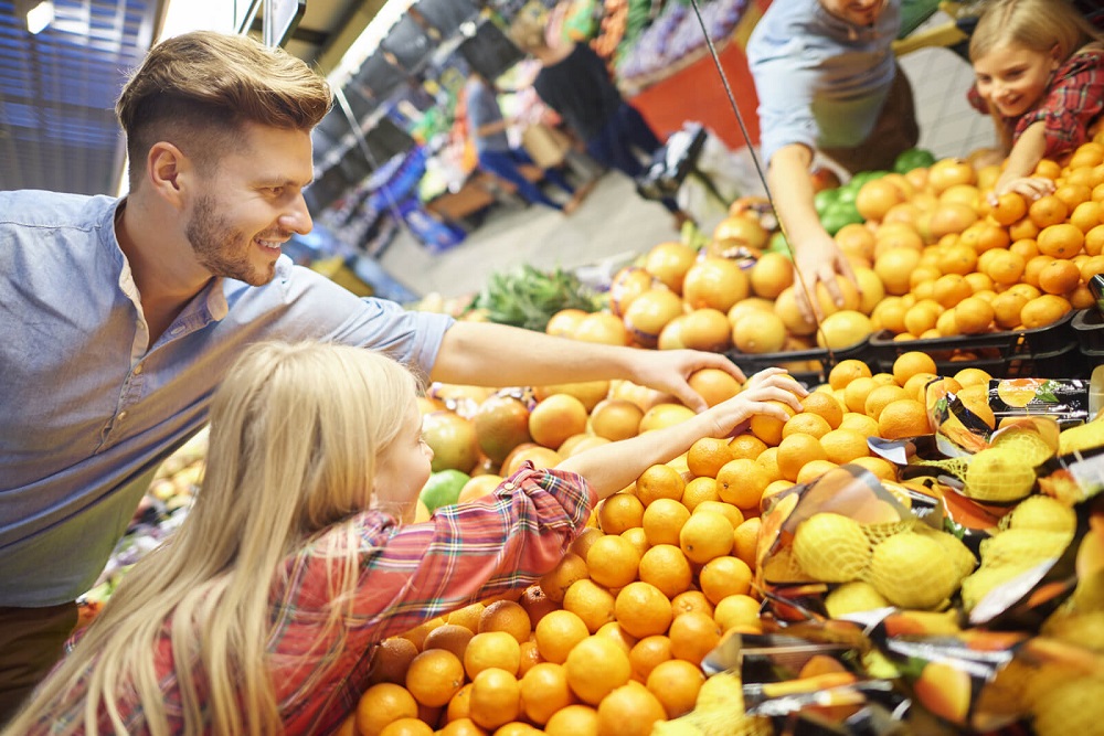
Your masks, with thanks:
[[[428,375],[453,323],[360,299],[283,256],[263,287],[212,279],[149,345],[118,205],[0,192],[0,606],[52,606],[95,583],[245,345],[364,345]]]

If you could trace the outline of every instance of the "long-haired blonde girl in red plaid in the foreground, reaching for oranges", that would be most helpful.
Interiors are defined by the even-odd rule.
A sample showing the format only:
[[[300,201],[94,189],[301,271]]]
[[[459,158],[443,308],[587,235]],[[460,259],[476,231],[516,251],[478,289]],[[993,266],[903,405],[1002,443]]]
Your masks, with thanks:
[[[127,574],[4,733],[330,733],[355,708],[374,644],[534,582],[598,500],[698,438],[754,414],[788,418],[767,402],[800,410],[781,373],[405,524],[433,459],[414,375],[358,348],[253,345],[215,392],[187,521]]]

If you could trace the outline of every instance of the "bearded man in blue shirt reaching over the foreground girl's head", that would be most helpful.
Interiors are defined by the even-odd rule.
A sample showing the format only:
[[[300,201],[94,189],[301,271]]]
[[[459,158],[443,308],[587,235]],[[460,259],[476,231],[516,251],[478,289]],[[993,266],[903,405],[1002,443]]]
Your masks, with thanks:
[[[0,723],[60,657],[73,600],[246,344],[363,345],[458,384],[623,376],[696,409],[691,373],[740,376],[711,353],[407,312],[294,266],[280,246],[311,228],[310,130],[331,99],[280,50],[178,36],[118,100],[127,198],[0,192]]]

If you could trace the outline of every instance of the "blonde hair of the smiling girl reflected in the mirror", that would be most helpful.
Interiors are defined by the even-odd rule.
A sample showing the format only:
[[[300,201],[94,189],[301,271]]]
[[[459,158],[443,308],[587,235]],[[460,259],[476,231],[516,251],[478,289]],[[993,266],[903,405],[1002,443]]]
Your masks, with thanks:
[[[969,41],[976,62],[998,46],[1016,44],[1064,62],[1079,49],[1100,41],[1101,33],[1068,0],[989,0]],[[1010,126],[991,111],[1005,150],[1011,148]]]

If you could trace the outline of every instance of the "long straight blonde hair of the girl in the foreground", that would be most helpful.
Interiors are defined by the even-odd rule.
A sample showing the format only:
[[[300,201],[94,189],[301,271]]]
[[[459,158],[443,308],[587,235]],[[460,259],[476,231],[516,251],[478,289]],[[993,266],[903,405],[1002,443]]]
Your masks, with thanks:
[[[212,399],[206,476],[187,521],[127,573],[10,733],[60,714],[84,679],[72,730],[97,734],[106,706],[114,729],[127,733],[115,704],[137,700],[146,728],[168,734],[155,668],[166,626],[185,733],[282,733],[266,658],[274,575],[309,537],[370,506],[378,460],[416,390],[410,371],[364,349],[247,349]],[[349,612],[341,601],[351,599],[359,568],[353,525],[338,529],[344,536],[327,545],[330,630]]]

